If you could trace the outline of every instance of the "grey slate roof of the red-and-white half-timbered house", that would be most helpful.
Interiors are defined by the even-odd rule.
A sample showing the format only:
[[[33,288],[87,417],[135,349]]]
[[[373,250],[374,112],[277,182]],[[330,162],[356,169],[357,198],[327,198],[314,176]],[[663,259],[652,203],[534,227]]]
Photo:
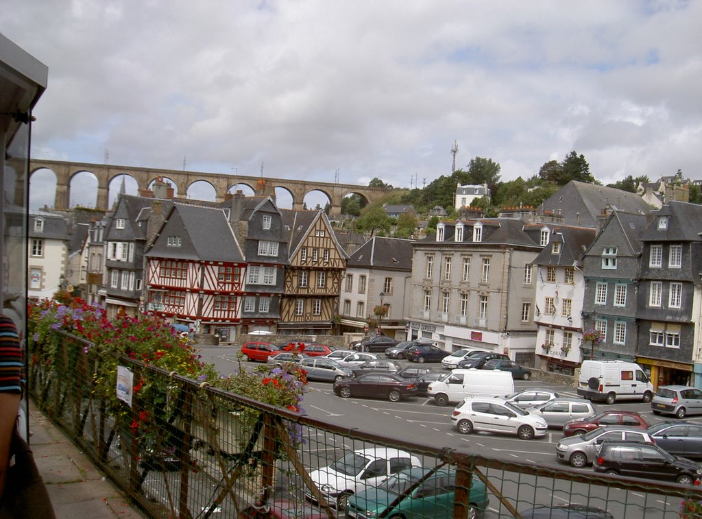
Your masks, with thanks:
[[[168,247],[168,236],[178,235],[180,247]],[[173,204],[148,257],[196,261],[244,262],[244,254],[234,237],[223,209],[190,204]]]

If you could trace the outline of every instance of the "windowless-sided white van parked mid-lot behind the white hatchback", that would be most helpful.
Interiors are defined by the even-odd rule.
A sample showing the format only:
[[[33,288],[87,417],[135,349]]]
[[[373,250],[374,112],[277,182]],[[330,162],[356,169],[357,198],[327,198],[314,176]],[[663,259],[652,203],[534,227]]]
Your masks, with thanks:
[[[442,406],[468,397],[503,397],[514,392],[512,374],[496,369],[454,369],[427,388],[427,396]]]

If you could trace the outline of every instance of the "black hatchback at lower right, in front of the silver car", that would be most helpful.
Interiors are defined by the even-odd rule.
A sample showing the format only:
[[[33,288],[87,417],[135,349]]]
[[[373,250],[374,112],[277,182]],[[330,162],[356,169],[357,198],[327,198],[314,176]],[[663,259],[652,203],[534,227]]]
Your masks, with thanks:
[[[595,472],[625,475],[681,485],[698,484],[702,468],[691,459],[673,456],[658,445],[604,442],[592,461]]]

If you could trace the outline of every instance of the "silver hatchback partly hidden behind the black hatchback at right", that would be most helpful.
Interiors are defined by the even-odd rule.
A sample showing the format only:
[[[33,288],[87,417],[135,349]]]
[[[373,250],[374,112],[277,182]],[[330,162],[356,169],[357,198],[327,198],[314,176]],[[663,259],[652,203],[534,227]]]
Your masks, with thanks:
[[[597,449],[603,442],[623,441],[653,443],[651,435],[643,429],[604,426],[582,435],[561,438],[556,444],[556,458],[575,468],[583,468],[592,463],[597,456]]]

